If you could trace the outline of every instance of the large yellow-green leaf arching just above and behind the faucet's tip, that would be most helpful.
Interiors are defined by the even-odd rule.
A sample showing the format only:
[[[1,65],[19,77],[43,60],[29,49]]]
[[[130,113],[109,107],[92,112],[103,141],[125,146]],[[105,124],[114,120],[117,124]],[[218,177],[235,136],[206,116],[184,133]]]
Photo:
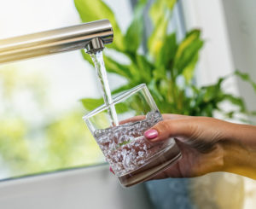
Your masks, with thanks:
[[[83,22],[108,19],[113,26],[114,42],[108,44],[109,48],[122,50],[125,48],[124,37],[119,25],[113,15],[113,11],[102,0],[74,0],[75,6],[79,11]]]

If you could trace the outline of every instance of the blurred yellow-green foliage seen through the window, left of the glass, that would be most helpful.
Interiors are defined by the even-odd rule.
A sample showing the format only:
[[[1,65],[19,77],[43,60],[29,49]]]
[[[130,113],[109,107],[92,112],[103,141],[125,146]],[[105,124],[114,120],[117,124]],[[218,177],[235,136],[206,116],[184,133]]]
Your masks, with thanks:
[[[47,80],[36,71],[0,69],[0,178],[103,161],[82,108],[52,110]]]

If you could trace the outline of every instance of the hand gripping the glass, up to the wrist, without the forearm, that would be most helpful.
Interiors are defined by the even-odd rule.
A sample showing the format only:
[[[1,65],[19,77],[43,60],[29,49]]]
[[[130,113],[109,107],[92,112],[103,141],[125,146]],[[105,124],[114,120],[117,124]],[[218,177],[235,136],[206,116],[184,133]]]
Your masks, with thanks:
[[[151,142],[174,137],[183,157],[154,179],[198,177],[208,172],[224,171],[226,150],[223,143],[230,123],[207,117],[177,114],[164,114],[163,118],[163,121],[146,131],[144,136]]]

